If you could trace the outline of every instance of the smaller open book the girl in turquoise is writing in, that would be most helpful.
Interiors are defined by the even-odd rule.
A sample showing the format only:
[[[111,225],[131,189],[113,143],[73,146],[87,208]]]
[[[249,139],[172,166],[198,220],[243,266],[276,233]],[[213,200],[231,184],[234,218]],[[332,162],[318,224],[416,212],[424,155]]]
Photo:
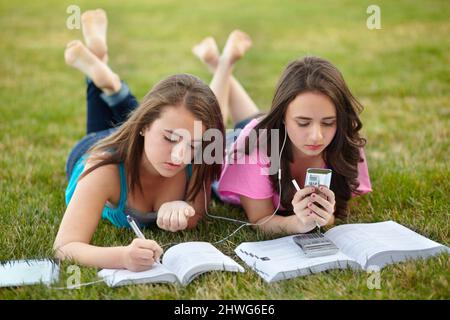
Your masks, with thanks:
[[[110,287],[149,282],[187,285],[208,271],[244,272],[244,268],[208,242],[185,242],[170,247],[164,253],[162,263],[154,264],[150,270],[103,269],[98,275]]]

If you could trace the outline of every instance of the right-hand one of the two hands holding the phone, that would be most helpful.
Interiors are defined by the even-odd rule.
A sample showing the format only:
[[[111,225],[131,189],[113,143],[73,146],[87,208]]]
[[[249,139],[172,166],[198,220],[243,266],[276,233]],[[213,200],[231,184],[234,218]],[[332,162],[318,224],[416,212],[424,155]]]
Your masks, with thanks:
[[[336,204],[334,192],[325,186],[320,186],[318,193],[312,193],[309,199],[308,208],[314,220],[321,227],[327,225],[333,219],[334,206]],[[319,207],[317,204],[322,207]]]

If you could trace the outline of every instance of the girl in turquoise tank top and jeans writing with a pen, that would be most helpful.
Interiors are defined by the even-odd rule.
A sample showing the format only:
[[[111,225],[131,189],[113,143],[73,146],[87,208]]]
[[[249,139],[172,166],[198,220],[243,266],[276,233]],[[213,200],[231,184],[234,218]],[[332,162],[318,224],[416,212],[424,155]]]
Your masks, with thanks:
[[[224,126],[214,93],[192,75],[162,80],[139,105],[106,64],[106,24],[103,10],[85,12],[88,47],[73,41],[65,51],[66,63],[88,78],[87,136],[67,160],[67,209],[54,249],[83,265],[141,271],[159,259],[161,247],[146,239],[91,245],[100,219],[129,227],[130,215],[141,226],[156,220],[172,232],[194,227],[209,198],[203,185],[208,190],[219,178],[221,164],[192,160],[209,145],[203,133],[214,128],[223,135]]]

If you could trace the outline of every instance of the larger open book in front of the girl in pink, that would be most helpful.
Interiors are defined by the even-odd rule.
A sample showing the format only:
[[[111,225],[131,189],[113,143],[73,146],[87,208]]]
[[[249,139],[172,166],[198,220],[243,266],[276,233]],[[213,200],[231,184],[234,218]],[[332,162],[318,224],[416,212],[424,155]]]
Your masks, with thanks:
[[[367,270],[450,249],[394,222],[346,224],[325,234],[339,248],[336,254],[308,258],[293,236],[260,242],[244,242],[235,252],[265,281],[290,279],[328,269]]]

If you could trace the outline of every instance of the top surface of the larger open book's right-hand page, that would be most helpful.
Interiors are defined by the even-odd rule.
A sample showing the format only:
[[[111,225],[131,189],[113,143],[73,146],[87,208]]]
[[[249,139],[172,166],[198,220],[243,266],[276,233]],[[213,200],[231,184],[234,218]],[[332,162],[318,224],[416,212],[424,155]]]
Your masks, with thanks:
[[[364,268],[368,259],[381,252],[441,246],[394,221],[341,225],[327,231],[325,236]]]

